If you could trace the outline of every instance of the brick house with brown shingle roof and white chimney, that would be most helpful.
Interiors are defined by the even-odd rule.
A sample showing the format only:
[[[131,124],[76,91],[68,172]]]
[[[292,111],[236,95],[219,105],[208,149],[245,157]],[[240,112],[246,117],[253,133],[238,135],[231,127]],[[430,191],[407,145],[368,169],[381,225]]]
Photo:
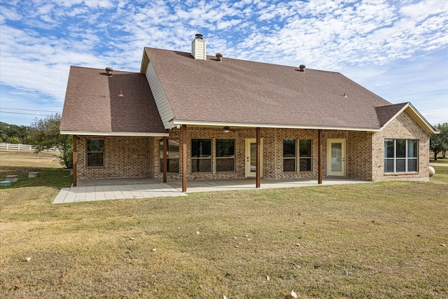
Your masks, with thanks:
[[[342,74],[145,48],[139,73],[71,67],[61,134],[79,179],[428,180],[436,130]]]

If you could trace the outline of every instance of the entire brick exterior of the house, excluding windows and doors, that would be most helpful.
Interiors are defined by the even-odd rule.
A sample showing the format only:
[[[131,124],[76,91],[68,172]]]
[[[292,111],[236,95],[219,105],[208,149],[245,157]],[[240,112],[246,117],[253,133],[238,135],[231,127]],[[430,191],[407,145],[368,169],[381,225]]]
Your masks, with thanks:
[[[428,180],[429,137],[407,114],[402,113],[384,130],[323,130],[323,176],[327,176],[327,141],[345,139],[346,178],[365,181],[391,179]],[[104,139],[104,166],[87,167],[87,137],[78,139],[78,179],[150,177],[162,179],[160,172],[160,137],[89,137]],[[169,131],[170,139],[179,139],[179,173],[168,173],[168,179],[181,179],[181,130]],[[317,178],[318,130],[262,128],[262,177],[265,179]],[[255,129],[233,129],[225,133],[217,127],[188,127],[188,179],[244,179],[246,177],[246,139],[255,139]],[[211,172],[191,172],[191,139],[211,139]],[[216,172],[216,139],[235,139],[235,172]],[[283,172],[283,139],[296,140],[295,172]],[[311,139],[311,172],[300,172],[299,140]],[[384,174],[384,139],[418,139],[419,172]]]

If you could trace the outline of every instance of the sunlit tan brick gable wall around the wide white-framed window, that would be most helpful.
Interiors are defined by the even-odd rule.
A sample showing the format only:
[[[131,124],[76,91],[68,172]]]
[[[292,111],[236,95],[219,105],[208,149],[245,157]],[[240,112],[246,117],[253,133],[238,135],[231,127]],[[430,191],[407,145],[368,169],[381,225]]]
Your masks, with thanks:
[[[384,174],[384,139],[418,139],[418,172],[409,174]],[[415,181],[429,180],[429,135],[403,112],[381,132],[372,137],[372,181],[406,179]]]

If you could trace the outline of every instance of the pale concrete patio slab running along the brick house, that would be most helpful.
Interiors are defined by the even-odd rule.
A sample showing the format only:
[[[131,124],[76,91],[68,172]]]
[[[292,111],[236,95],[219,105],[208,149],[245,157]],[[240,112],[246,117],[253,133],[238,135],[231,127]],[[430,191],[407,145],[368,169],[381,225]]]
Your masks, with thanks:
[[[191,180],[188,182],[188,193],[214,192],[230,190],[255,190],[272,188],[298,188],[306,186],[328,186],[349,183],[370,183],[356,179],[328,178],[318,183],[316,179],[274,180],[262,179],[260,188],[255,186],[255,179],[216,179]],[[69,202],[92,202],[99,200],[129,200],[151,197],[186,196],[182,192],[181,180],[168,180],[162,183],[159,179],[82,179],[77,186],[62,188],[53,200],[53,204]]]

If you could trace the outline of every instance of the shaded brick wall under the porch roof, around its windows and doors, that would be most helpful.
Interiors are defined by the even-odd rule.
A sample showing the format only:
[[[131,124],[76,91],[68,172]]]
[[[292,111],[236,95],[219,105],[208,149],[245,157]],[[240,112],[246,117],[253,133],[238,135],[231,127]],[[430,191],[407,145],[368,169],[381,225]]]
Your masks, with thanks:
[[[262,177],[265,179],[308,179],[317,178],[318,172],[318,130],[295,130],[280,128],[262,128],[260,130],[263,147],[263,171]],[[188,127],[187,128],[187,167],[188,179],[242,179],[246,177],[246,139],[255,139],[255,129],[232,129],[232,132],[225,133],[221,128],[211,127]],[[371,137],[367,132],[347,132],[337,130],[323,131],[323,176],[326,176],[326,143],[327,139],[346,139],[347,146],[347,174],[353,179],[371,179]],[[180,155],[182,156],[181,130],[170,130],[170,137],[179,139]],[[211,139],[211,172],[192,173],[191,172],[191,139]],[[235,139],[235,172],[216,172],[216,139]],[[283,139],[296,140],[296,162],[295,172],[283,172]],[[311,139],[311,172],[300,172],[299,140]],[[152,174],[154,178],[162,179],[160,173],[160,154],[158,151],[159,140],[153,143],[156,148]],[[359,166],[363,166],[361,169]],[[181,173],[181,165],[180,170]],[[168,179],[179,179],[179,174],[168,173]]]

